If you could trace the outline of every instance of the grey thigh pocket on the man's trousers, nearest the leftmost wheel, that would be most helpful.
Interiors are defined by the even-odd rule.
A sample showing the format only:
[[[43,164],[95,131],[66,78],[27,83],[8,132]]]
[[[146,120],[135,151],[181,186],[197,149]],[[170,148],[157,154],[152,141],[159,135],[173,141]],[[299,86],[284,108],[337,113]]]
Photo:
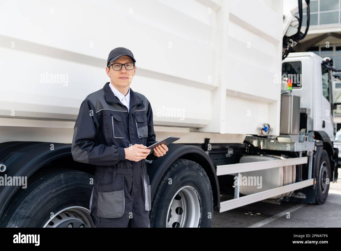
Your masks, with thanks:
[[[118,177],[117,177],[118,176]],[[124,214],[124,178],[116,174],[110,184],[98,186],[97,216],[102,218],[119,218]],[[121,178],[123,181],[121,181]]]

